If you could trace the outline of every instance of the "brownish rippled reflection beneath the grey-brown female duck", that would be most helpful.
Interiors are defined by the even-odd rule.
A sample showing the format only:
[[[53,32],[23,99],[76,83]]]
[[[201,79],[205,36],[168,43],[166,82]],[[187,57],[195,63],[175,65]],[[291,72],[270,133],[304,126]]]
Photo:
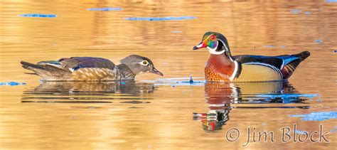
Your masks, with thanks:
[[[149,103],[154,84],[134,80],[114,82],[42,82],[38,87],[25,91],[21,102],[59,103]],[[122,95],[120,95],[122,94]]]

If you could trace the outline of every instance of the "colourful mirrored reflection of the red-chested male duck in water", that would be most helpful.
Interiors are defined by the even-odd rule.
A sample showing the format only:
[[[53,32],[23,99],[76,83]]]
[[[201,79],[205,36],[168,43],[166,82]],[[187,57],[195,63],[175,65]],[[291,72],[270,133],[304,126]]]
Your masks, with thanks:
[[[301,103],[305,100],[299,95],[284,96],[284,94],[294,93],[296,90],[288,82],[206,82],[205,97],[210,111],[208,113],[193,113],[193,119],[201,121],[203,129],[207,131],[219,130],[230,119],[229,114],[232,108],[270,108],[230,107],[231,104]],[[307,107],[276,108],[306,109]]]

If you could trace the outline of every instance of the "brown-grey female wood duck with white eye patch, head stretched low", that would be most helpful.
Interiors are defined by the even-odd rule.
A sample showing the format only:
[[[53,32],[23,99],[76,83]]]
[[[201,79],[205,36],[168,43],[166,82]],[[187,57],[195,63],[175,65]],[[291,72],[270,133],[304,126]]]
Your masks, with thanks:
[[[119,65],[105,58],[92,57],[61,58],[41,61],[36,65],[21,61],[21,64],[23,68],[43,77],[43,80],[134,80],[136,75],[145,72],[163,76],[149,58],[140,55],[129,55]]]

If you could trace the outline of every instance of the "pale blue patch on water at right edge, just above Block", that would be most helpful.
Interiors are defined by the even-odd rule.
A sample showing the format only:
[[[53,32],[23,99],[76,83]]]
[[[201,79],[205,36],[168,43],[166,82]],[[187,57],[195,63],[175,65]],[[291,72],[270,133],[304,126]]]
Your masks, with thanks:
[[[310,114],[294,114],[289,117],[302,117],[304,121],[324,121],[327,119],[336,119],[337,112],[311,112]]]

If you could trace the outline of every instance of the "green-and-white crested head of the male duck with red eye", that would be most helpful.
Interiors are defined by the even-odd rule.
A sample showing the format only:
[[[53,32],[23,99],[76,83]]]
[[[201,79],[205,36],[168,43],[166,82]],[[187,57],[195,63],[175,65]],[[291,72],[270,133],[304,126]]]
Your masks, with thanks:
[[[220,55],[230,51],[227,38],[221,33],[206,32],[201,39],[201,42],[193,47],[193,50],[207,48],[211,54]]]

